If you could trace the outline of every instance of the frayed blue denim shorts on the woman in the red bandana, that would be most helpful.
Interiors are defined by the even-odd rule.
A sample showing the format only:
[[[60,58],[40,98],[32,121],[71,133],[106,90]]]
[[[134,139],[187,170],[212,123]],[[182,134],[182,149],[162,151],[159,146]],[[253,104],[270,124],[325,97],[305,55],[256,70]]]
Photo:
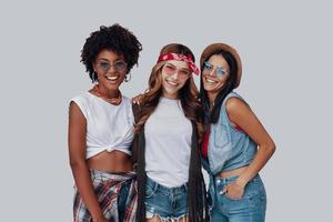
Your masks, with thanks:
[[[145,182],[145,218],[179,220],[188,215],[188,184],[175,188],[163,186],[150,178]]]

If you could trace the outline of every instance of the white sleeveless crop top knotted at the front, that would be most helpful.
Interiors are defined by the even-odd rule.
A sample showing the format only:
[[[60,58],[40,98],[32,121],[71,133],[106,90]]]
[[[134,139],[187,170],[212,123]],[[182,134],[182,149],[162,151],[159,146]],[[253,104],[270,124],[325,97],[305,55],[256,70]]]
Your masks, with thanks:
[[[89,159],[107,150],[131,154],[134,138],[134,117],[131,100],[122,97],[119,105],[85,92],[73,98],[87,120],[87,154]]]

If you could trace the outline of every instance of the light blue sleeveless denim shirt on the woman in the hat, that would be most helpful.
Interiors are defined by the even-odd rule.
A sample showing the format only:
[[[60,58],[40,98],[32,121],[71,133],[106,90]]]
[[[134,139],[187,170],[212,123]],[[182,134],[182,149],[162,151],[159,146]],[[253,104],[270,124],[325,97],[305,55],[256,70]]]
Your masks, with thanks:
[[[234,129],[229,120],[225,103],[233,97],[244,101],[230,92],[222,103],[218,122],[211,124],[208,160],[203,160],[203,167],[211,175],[249,165],[256,153],[255,142],[245,132]]]

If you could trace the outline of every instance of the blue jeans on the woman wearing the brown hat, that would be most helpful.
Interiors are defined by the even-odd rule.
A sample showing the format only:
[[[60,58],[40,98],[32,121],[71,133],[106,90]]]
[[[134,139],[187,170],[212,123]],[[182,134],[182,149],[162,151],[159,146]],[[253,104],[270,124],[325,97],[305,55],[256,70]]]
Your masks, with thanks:
[[[238,176],[215,178],[214,188],[210,188],[214,204],[211,208],[213,222],[264,222],[266,211],[266,193],[259,175],[245,186],[240,200],[232,200],[228,193],[220,194],[224,186],[235,181]]]

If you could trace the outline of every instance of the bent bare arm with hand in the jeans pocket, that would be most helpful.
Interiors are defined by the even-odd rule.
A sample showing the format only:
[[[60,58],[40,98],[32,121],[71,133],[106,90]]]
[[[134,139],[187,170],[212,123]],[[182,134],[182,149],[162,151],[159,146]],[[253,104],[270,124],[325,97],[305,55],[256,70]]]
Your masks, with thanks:
[[[234,184],[234,191],[238,190],[242,192],[233,193],[232,190],[228,190],[228,193],[231,196],[234,194],[234,198],[241,198],[248,182],[259,173],[274,153],[275,144],[264,127],[261,124],[260,120],[242,100],[238,98],[229,99],[226,102],[226,112],[230,121],[242,128],[259,147],[253,161],[246,170],[242,172]]]

